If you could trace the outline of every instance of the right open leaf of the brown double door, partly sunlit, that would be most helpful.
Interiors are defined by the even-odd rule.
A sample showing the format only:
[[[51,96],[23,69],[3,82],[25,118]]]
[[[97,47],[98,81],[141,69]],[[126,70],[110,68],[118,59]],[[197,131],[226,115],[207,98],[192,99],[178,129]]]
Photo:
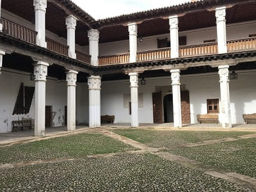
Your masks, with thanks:
[[[182,124],[190,124],[189,91],[180,92]]]

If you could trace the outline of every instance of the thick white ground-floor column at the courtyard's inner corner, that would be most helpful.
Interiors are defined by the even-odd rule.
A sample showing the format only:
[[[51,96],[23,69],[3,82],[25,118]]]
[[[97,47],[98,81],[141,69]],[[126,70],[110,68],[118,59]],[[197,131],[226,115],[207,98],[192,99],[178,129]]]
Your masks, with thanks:
[[[88,77],[89,86],[89,127],[100,127],[100,86],[101,77]]]

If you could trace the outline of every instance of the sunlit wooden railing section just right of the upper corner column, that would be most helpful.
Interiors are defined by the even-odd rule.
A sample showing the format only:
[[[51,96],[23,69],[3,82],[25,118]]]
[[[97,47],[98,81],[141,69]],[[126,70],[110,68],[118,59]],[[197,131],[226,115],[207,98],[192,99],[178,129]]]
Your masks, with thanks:
[[[99,57],[99,65],[129,63],[129,52]]]

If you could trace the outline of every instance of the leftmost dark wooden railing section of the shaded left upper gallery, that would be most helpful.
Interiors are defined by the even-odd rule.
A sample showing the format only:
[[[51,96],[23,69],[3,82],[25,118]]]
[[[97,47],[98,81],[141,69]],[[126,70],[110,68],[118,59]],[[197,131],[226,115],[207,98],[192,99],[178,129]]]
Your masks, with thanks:
[[[1,18],[1,23],[3,24],[3,33],[14,36],[31,44],[36,43],[36,31],[24,28],[19,24],[15,24],[14,22],[10,22],[9,20],[3,18]]]

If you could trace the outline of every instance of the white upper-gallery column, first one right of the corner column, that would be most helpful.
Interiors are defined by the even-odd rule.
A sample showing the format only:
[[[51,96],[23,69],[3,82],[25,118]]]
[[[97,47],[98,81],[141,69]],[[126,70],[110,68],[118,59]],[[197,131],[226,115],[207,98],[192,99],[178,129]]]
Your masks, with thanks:
[[[136,23],[128,24],[129,44],[130,44],[130,63],[137,61],[137,33],[138,25]]]

